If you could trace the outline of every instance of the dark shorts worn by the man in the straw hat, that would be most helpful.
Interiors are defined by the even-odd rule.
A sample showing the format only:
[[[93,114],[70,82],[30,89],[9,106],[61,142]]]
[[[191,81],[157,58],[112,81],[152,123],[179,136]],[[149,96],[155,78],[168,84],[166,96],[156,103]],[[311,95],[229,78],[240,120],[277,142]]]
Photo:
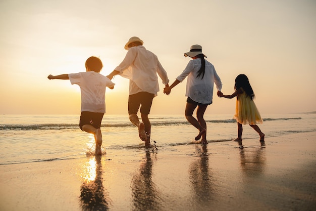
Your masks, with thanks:
[[[128,96],[128,114],[137,114],[139,106],[140,113],[149,114],[154,94],[139,92]]]

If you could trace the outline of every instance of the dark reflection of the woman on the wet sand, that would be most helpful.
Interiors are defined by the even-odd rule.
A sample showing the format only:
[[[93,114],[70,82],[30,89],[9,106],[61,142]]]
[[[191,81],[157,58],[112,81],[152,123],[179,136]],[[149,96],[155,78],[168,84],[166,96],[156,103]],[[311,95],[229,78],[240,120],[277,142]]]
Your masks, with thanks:
[[[211,204],[214,184],[208,166],[207,146],[196,146],[196,148],[199,159],[195,159],[189,168],[189,178],[193,188],[192,208],[207,210]]]

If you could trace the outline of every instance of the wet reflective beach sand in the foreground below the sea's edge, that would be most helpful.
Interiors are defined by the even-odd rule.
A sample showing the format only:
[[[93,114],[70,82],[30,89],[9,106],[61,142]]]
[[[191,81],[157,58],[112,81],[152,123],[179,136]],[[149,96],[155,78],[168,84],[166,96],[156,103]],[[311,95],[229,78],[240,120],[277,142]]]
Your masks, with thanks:
[[[316,132],[0,165],[0,210],[315,210]]]

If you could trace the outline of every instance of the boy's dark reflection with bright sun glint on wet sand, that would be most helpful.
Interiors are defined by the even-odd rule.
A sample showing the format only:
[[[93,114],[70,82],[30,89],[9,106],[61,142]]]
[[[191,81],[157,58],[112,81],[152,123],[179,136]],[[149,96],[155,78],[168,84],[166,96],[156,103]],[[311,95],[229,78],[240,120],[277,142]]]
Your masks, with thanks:
[[[80,190],[82,210],[109,210],[109,193],[102,184],[101,156],[92,157],[86,162],[81,177],[84,179]]]

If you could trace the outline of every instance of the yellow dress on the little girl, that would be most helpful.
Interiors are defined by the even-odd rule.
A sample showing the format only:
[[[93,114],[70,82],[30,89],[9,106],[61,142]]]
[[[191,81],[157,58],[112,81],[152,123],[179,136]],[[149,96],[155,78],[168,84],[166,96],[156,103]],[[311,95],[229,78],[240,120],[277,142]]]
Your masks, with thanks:
[[[238,95],[234,119],[240,124],[262,124],[262,118],[253,100],[245,92]]]

